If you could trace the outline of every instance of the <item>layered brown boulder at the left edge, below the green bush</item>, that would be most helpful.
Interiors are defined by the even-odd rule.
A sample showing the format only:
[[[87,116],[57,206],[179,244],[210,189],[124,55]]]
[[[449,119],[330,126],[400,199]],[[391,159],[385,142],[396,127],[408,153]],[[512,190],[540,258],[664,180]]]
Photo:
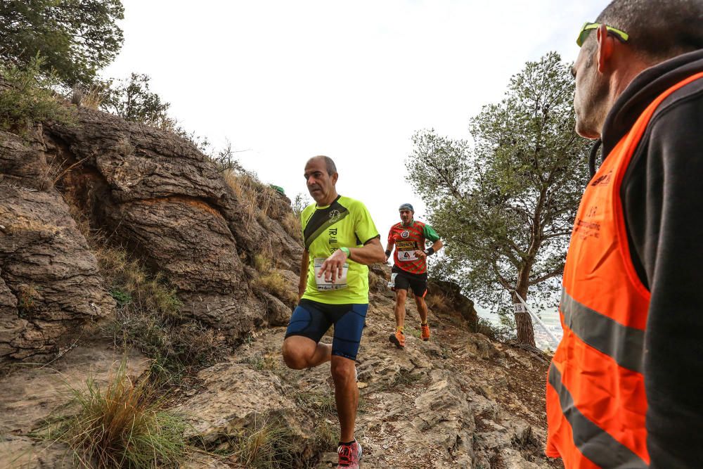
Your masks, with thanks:
[[[41,141],[30,148],[6,132],[0,141],[1,363],[58,352],[115,302],[61,195],[37,188]]]

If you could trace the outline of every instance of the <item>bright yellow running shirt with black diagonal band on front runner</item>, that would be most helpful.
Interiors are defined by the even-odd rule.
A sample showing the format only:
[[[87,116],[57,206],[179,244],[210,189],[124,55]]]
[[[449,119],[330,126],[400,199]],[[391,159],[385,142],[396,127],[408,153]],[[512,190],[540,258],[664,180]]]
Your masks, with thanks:
[[[326,207],[311,204],[300,214],[303,241],[309,253],[307,288],[302,296],[325,304],[368,303],[368,267],[347,259],[346,281],[324,283],[316,264],[339,248],[359,248],[378,238],[371,215],[359,200],[338,196]]]

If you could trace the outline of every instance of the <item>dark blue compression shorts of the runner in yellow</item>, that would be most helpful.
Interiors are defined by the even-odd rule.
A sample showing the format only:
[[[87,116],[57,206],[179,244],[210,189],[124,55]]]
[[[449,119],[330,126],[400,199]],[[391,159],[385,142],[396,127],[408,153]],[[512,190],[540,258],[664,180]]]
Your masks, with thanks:
[[[302,299],[290,316],[285,337],[302,335],[316,343],[335,325],[332,354],[356,360],[368,304],[325,304]]]

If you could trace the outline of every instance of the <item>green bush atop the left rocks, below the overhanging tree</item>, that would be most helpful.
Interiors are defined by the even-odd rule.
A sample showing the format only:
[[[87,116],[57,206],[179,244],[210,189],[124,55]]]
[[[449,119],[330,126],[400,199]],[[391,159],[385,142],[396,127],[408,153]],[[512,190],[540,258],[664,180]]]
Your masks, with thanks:
[[[32,125],[53,120],[71,125],[75,117],[62,105],[52,88],[58,84],[56,75],[41,72],[46,59],[35,56],[26,67],[0,65],[0,75],[10,85],[0,91],[0,128],[24,133]]]

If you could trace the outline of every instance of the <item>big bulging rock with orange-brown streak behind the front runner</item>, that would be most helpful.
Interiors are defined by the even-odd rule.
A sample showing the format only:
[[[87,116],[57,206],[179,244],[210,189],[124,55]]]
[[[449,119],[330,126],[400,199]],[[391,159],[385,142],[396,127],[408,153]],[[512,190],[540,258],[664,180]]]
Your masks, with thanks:
[[[45,129],[47,153],[80,162],[60,184],[91,224],[162,271],[183,311],[230,338],[266,326],[269,316],[280,323],[280,305],[252,293],[245,266],[265,245],[294,268],[302,246],[280,226],[290,201],[278,193],[240,200],[214,164],[174,134],[83,108],[77,116],[77,127]],[[266,214],[253,216],[263,209],[252,203]]]

